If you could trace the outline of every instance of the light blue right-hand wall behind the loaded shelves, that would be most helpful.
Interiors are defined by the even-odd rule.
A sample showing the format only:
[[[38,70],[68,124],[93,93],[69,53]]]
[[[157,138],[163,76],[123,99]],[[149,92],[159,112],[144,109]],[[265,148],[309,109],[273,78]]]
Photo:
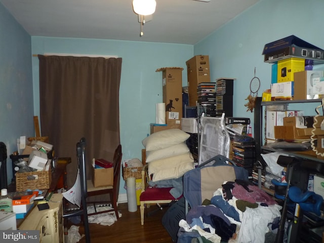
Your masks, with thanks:
[[[262,0],[228,22],[196,45],[194,55],[209,55],[211,80],[234,77],[233,114],[250,117],[246,112],[250,81],[260,78],[262,91],[270,89],[271,64],[265,63],[264,45],[296,35],[304,41],[324,49],[324,1],[322,0]],[[324,70],[323,65],[317,69]]]

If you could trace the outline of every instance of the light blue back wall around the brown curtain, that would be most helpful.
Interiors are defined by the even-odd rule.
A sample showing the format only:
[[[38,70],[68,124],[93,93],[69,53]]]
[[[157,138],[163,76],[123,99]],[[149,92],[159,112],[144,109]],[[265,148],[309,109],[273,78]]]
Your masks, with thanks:
[[[32,54],[70,53],[114,55],[123,58],[119,90],[120,141],[123,159],[141,159],[142,140],[155,122],[155,104],[163,100],[160,67],[182,67],[187,82],[186,60],[192,45],[32,36]],[[34,110],[39,115],[38,58],[32,58]],[[124,183],[121,183],[124,186]],[[120,193],[126,193],[120,188]]]

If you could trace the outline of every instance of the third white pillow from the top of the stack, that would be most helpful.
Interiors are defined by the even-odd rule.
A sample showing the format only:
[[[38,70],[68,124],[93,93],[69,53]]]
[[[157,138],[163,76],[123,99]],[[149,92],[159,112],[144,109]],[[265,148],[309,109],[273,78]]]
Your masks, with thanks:
[[[177,156],[154,160],[148,163],[148,174],[155,174],[159,171],[167,169],[174,170],[178,165],[185,164],[188,162],[193,162],[193,157],[190,152],[180,154]]]

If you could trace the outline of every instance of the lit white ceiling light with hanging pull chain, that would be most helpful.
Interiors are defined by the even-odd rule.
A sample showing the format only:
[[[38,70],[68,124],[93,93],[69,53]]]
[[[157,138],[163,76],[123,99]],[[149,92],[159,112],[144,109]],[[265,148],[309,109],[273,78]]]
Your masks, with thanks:
[[[155,0],[133,0],[133,10],[139,16],[140,22],[140,37],[144,35],[143,25],[145,24],[145,16],[152,15],[155,12]],[[149,20],[148,20],[149,21]]]

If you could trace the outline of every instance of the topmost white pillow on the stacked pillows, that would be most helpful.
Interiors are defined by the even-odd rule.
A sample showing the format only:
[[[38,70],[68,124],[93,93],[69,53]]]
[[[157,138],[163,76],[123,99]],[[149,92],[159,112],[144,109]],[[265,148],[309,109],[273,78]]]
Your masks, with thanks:
[[[151,134],[143,139],[146,151],[158,150],[182,143],[190,137],[180,129],[168,129]]]

